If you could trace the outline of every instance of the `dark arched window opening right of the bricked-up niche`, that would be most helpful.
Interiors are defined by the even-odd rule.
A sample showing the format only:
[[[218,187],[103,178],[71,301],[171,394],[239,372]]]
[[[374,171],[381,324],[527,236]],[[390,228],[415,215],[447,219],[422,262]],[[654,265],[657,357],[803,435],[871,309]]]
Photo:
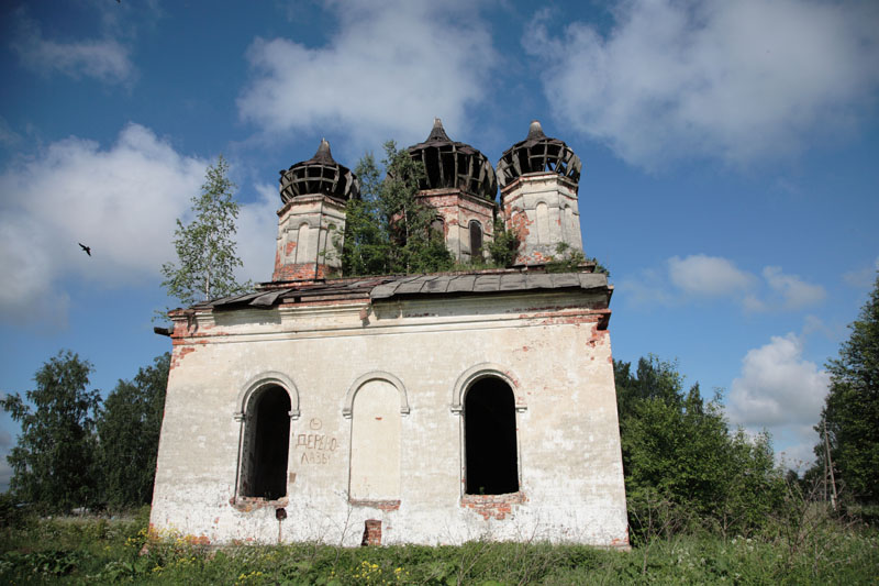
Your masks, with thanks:
[[[464,399],[466,491],[519,491],[519,457],[513,390],[500,378],[477,380]]]

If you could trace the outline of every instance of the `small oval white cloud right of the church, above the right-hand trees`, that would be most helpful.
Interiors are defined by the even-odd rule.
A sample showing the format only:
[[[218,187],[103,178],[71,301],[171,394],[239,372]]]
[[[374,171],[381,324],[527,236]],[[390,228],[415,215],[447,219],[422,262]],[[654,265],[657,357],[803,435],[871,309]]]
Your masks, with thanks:
[[[668,277],[672,285],[697,296],[737,296],[753,286],[753,275],[739,270],[726,258],[692,254],[668,259]]]

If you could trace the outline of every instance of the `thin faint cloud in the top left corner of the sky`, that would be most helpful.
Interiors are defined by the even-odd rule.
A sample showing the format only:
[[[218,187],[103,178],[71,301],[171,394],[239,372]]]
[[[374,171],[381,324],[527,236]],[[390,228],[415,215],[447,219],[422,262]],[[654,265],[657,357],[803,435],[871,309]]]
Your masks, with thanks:
[[[74,79],[92,77],[108,84],[126,82],[134,76],[127,47],[114,38],[59,43],[44,38],[40,25],[23,14],[18,21],[10,45],[29,69]]]

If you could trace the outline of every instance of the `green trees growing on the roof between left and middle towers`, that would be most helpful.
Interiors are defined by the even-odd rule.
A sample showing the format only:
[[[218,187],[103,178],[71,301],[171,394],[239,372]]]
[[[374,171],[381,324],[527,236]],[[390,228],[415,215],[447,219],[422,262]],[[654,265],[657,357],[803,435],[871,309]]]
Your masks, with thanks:
[[[424,165],[407,150],[385,143],[385,179],[371,154],[355,173],[360,201],[349,201],[342,267],[345,275],[409,274],[447,270],[454,258],[442,235],[431,230],[435,212],[419,198]]]

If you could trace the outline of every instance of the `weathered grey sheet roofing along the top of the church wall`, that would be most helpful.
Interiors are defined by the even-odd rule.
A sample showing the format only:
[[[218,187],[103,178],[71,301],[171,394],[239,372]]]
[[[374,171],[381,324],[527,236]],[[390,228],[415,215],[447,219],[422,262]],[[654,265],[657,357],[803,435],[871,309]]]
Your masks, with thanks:
[[[372,301],[454,295],[491,295],[499,292],[552,289],[613,290],[608,277],[600,273],[537,273],[519,269],[488,269],[469,273],[431,275],[390,275],[309,281],[303,284],[269,283],[256,292],[213,299],[193,309],[269,309],[279,305],[318,301],[369,299]],[[610,300],[610,299],[609,299]]]

